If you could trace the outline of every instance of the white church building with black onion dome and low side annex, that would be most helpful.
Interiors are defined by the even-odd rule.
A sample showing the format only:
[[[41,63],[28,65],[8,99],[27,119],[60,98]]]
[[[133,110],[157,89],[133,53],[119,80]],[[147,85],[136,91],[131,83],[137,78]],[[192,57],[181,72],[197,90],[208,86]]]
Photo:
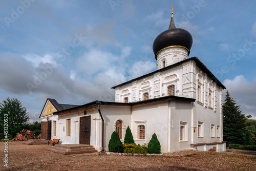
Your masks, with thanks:
[[[59,104],[48,98],[40,114],[42,139],[61,144],[90,144],[108,151],[113,131],[123,142],[127,126],[136,144],[156,133],[161,152],[184,149],[225,151],[222,136],[223,84],[197,57],[190,57],[193,38],[176,28],[173,19],[159,34],[153,51],[157,70],[115,90],[115,102]]]

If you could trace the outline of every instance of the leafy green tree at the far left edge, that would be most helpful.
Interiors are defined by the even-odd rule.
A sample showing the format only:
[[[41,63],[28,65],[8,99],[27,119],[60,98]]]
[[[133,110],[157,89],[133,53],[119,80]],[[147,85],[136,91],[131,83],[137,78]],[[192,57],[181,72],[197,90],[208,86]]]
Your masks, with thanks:
[[[19,100],[8,97],[0,103],[0,131],[3,133],[8,130],[8,138],[13,138],[16,133],[26,129],[28,122],[27,110]]]

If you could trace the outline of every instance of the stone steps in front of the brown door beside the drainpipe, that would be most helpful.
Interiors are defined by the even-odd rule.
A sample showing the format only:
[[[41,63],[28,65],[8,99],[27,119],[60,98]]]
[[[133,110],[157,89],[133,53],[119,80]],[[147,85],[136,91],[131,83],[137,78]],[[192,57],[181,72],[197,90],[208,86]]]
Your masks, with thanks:
[[[55,146],[49,146],[45,149],[64,155],[98,152],[93,146],[82,144],[56,144]]]

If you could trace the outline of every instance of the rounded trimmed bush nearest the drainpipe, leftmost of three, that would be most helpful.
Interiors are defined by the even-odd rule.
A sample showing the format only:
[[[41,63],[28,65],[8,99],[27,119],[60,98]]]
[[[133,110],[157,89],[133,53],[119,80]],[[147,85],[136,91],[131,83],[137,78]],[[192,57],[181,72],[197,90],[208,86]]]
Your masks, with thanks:
[[[116,131],[114,131],[111,135],[111,139],[109,142],[109,151],[114,153],[123,152],[123,143],[121,142],[119,135]]]

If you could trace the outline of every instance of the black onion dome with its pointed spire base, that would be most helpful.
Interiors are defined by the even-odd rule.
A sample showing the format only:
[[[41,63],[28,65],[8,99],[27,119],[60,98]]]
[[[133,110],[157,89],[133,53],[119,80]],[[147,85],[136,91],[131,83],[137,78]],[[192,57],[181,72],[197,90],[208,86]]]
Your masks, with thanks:
[[[153,43],[153,52],[157,59],[157,54],[165,48],[182,47],[188,51],[189,55],[192,44],[193,38],[191,34],[184,29],[176,28],[174,18],[172,16],[169,28],[159,34],[155,39]]]

